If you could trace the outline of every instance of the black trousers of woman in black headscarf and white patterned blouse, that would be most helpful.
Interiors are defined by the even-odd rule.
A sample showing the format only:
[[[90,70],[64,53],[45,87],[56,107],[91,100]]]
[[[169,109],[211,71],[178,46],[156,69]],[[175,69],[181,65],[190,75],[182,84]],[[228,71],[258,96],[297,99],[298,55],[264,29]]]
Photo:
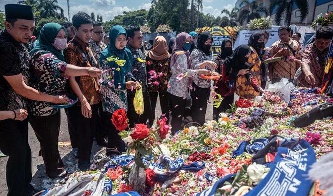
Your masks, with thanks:
[[[207,101],[209,100],[210,88],[201,88],[194,82],[191,90],[192,106],[191,113],[193,122],[203,125],[206,121]]]

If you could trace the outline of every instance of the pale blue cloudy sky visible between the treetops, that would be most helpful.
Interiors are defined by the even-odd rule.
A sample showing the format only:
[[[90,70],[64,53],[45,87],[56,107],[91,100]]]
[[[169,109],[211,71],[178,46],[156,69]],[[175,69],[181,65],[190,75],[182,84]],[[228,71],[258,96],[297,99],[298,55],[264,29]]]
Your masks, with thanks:
[[[16,3],[18,0],[0,0],[0,10],[4,11],[7,3]],[[64,9],[65,16],[68,17],[67,0],[58,0],[59,5]],[[221,16],[224,8],[231,10],[235,6],[236,0],[203,0],[203,13],[210,13],[214,16]],[[71,17],[73,14],[84,11],[94,12],[95,17],[103,16],[103,21],[111,20],[114,16],[122,14],[123,11],[133,11],[137,9],[149,10],[151,0],[70,0]]]

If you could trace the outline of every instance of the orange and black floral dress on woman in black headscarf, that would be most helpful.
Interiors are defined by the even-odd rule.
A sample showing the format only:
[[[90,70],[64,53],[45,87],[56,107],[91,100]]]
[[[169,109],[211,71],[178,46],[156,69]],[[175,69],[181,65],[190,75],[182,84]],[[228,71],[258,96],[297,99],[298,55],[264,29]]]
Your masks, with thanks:
[[[255,96],[260,95],[258,89],[261,84],[261,62],[255,50],[253,50],[253,48],[251,49],[252,52],[250,54],[248,64],[254,64],[254,66],[251,68],[249,74],[239,76],[236,81],[236,94],[243,99],[254,99]]]

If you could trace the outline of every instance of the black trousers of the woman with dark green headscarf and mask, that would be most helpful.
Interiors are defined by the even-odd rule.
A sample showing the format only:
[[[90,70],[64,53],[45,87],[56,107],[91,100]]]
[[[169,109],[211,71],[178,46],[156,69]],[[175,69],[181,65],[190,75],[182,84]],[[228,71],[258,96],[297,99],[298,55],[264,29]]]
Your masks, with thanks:
[[[58,150],[60,131],[60,110],[57,114],[37,117],[29,115],[29,122],[40,143],[40,149],[45,164],[46,174],[50,178],[64,172],[64,163]]]

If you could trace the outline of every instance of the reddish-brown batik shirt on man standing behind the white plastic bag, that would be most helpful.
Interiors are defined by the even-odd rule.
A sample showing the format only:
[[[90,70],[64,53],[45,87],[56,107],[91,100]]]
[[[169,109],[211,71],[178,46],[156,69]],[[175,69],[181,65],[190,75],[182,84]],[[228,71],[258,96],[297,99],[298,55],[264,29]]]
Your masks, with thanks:
[[[284,43],[281,40],[276,41],[271,47],[270,47],[270,53],[272,56],[274,56],[280,49],[287,48],[287,59],[278,61],[275,63],[272,63],[273,72],[272,72],[272,78],[287,78],[287,79],[293,79],[296,73],[296,62],[288,61],[289,56],[294,56],[292,51],[285,45],[289,44],[289,46],[295,51],[296,59],[299,59],[299,44],[295,40],[290,39],[289,43]]]

